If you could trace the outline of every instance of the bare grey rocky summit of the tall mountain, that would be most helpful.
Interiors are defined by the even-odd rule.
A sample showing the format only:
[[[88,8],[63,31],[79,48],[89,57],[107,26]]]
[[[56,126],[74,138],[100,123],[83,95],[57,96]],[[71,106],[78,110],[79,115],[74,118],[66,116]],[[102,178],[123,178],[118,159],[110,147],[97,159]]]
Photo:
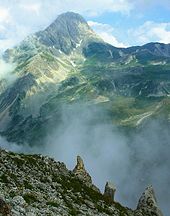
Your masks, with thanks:
[[[82,41],[97,37],[86,20],[74,12],[59,15],[49,27],[38,32],[37,36],[44,45],[66,54],[70,54]]]

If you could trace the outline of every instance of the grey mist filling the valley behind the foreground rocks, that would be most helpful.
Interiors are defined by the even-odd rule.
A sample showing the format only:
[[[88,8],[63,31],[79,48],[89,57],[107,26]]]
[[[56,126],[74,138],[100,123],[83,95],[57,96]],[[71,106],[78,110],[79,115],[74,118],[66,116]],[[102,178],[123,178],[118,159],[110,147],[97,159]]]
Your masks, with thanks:
[[[63,107],[62,123],[49,129],[45,146],[23,147],[2,138],[0,145],[12,151],[49,155],[63,161],[69,169],[74,168],[76,156],[80,155],[93,183],[103,192],[106,181],[111,181],[117,188],[116,201],[133,209],[144,189],[152,184],[158,204],[168,216],[169,126],[152,120],[127,134],[102,118],[101,109]]]

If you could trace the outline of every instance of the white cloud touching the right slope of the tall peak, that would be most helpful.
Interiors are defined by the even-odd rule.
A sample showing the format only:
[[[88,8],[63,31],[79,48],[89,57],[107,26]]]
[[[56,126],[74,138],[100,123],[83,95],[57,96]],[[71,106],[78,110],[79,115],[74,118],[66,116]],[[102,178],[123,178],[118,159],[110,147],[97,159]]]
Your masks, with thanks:
[[[126,47],[114,36],[114,28],[108,24],[89,21],[88,24],[94,29],[95,32],[107,43],[115,47]]]

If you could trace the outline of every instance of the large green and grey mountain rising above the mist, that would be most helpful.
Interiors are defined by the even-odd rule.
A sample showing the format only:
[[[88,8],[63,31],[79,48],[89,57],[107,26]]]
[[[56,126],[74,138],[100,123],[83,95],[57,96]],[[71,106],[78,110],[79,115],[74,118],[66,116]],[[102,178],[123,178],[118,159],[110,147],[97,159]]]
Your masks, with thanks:
[[[102,107],[106,119],[121,127],[169,119],[169,44],[116,48],[68,12],[3,59],[15,64],[17,77],[0,83],[0,130],[9,141],[41,142],[46,127],[59,124],[63,104]]]

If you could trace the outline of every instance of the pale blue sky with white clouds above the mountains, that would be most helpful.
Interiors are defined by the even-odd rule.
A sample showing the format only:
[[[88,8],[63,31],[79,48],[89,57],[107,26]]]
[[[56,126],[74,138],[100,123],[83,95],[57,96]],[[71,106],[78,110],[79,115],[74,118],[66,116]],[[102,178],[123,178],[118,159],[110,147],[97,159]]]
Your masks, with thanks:
[[[169,0],[0,0],[0,51],[74,11],[114,46],[170,43]]]

